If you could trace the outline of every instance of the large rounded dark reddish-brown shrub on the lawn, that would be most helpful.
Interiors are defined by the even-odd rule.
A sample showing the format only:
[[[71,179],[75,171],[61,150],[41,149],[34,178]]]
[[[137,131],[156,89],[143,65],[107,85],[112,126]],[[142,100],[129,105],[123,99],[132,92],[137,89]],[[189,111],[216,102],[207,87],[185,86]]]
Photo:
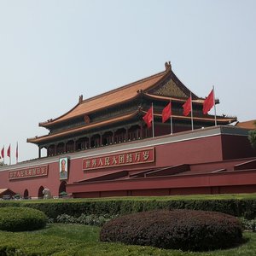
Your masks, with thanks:
[[[207,251],[240,243],[240,221],[219,212],[193,210],[139,212],[104,224],[101,241],[184,251]]]

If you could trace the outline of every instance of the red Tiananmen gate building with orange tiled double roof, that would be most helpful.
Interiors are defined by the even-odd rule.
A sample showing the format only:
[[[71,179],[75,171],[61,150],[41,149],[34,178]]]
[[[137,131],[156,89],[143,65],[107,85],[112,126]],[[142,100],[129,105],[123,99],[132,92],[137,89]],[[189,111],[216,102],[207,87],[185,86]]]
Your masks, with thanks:
[[[193,119],[183,114],[189,96]],[[38,159],[0,167],[0,189],[24,198],[41,198],[44,189],[75,198],[256,192],[249,130],[234,125],[236,117],[204,114],[204,101],[177,79],[170,62],[148,78],[79,96],[70,111],[39,123],[47,135],[27,139],[38,146]],[[162,122],[169,102],[172,125]],[[148,128],[143,117],[152,106]]]

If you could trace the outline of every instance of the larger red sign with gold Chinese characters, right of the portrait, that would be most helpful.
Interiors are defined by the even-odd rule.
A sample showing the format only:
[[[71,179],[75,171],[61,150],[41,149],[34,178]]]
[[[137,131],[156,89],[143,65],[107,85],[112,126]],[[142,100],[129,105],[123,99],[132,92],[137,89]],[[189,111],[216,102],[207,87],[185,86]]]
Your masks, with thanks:
[[[143,148],[108,154],[99,157],[85,158],[83,170],[108,168],[114,166],[128,166],[154,162],[154,148]]]

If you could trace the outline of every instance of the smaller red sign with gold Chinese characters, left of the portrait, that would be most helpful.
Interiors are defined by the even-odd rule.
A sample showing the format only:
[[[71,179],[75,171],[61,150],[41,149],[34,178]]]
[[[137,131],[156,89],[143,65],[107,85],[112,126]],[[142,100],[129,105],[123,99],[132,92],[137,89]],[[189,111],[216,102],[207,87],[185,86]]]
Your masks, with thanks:
[[[26,177],[42,177],[48,175],[48,165],[36,166],[17,171],[9,171],[9,180]]]

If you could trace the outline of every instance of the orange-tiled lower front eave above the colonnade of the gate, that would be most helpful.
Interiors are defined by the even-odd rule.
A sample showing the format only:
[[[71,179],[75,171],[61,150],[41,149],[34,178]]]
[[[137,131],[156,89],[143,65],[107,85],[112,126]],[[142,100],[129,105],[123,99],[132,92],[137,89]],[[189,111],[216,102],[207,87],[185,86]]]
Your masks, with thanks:
[[[113,119],[108,119],[108,120],[95,122],[95,123],[88,124],[88,125],[79,126],[77,128],[74,128],[74,129],[68,129],[66,131],[61,131],[61,132],[54,133],[54,134],[44,135],[42,137],[28,138],[28,139],[26,139],[26,142],[27,143],[35,143],[35,144],[44,143],[44,142],[47,142],[51,139],[71,135],[71,134],[81,132],[81,131],[87,131],[87,130],[93,129],[95,127],[98,127],[98,126],[111,125],[111,124],[117,123],[119,121],[125,121],[125,120],[128,120],[128,119],[131,119],[131,118],[135,117],[137,115],[137,113],[138,113],[138,110],[133,112],[133,113],[129,113],[129,114],[126,114],[126,115],[123,115],[123,116],[113,118]]]

